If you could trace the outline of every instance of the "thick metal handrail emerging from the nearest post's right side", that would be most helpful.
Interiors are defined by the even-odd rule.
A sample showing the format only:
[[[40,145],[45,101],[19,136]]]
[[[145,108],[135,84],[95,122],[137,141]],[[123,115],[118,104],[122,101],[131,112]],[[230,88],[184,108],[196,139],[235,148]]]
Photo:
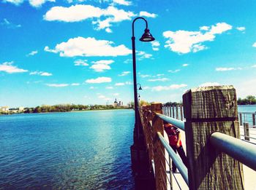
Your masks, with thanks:
[[[211,145],[225,154],[237,159],[244,165],[256,170],[256,146],[233,138],[221,132],[214,132],[210,137]]]

